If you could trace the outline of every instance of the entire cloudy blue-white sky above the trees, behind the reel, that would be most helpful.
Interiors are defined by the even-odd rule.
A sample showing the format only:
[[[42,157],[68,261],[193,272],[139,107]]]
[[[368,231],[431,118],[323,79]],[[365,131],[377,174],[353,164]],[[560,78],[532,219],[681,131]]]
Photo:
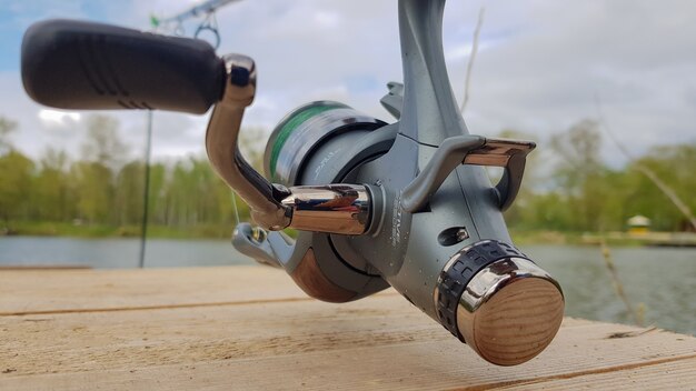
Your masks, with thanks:
[[[150,16],[177,14],[192,0],[0,0],[0,116],[18,122],[11,141],[38,159],[48,147],[78,157],[84,118],[32,102],[19,71],[23,31],[49,18],[83,19],[149,30]],[[465,121],[471,133],[553,134],[598,119],[636,154],[665,143],[696,142],[696,2],[689,0],[450,0],[444,48],[453,90],[464,96],[471,38],[485,6]],[[258,88],[243,127],[270,132],[289,111],[337,100],[391,122],[380,107],[388,81],[401,81],[397,1],[242,0],[220,9],[218,53],[250,56]],[[200,19],[185,23],[191,36]],[[146,114],[108,112],[131,158],[145,148]],[[157,112],[156,160],[205,153],[209,113]],[[603,157],[626,162],[608,138]],[[262,140],[259,140],[262,142]]]

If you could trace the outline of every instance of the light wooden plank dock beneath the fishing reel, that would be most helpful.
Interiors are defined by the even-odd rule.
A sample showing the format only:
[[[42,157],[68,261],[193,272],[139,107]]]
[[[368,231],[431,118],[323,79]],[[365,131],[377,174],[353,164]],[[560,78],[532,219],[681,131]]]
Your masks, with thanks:
[[[308,299],[261,267],[0,271],[0,390],[694,390],[696,338],[565,319],[486,363],[404,298]]]

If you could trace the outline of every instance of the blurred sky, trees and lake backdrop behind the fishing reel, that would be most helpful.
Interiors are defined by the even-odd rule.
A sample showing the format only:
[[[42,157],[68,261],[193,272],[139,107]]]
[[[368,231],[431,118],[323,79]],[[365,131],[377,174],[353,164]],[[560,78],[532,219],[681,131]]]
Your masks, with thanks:
[[[153,114],[143,251],[148,116],[33,103],[19,64],[36,21],[186,37],[203,26],[211,42],[217,31],[219,53],[257,62],[241,143],[259,166],[274,126],[309,101],[392,121],[379,99],[401,81],[396,1],[232,1],[163,23],[200,3],[0,1],[0,272],[133,268],[141,257],[145,267],[253,263],[229,244],[237,215],[249,217],[205,157],[209,113]],[[538,144],[506,218],[563,284],[568,315],[696,334],[695,11],[686,0],[446,6],[446,60],[469,131]]]

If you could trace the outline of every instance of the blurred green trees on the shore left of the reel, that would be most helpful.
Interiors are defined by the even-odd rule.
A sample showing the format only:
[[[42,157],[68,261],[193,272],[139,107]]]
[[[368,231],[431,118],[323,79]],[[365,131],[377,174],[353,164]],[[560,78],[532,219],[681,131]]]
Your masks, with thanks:
[[[16,124],[3,120],[3,133]],[[95,116],[87,120],[81,157],[47,149],[33,161],[6,141],[0,144],[0,228],[20,222],[63,222],[79,225],[138,227],[143,218],[145,162],[122,161],[128,148],[118,137],[118,122]],[[232,193],[203,157],[150,166],[150,224],[181,230],[228,227],[233,222]],[[248,210],[240,204],[241,218]],[[130,233],[132,230],[128,231]]]

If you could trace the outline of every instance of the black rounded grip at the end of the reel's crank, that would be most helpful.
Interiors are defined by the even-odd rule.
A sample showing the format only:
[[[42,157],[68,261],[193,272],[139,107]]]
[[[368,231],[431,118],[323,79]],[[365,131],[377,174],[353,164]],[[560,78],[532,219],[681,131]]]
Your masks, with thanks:
[[[27,93],[46,106],[190,113],[220,100],[226,72],[205,41],[73,20],[31,26],[21,68]]]

